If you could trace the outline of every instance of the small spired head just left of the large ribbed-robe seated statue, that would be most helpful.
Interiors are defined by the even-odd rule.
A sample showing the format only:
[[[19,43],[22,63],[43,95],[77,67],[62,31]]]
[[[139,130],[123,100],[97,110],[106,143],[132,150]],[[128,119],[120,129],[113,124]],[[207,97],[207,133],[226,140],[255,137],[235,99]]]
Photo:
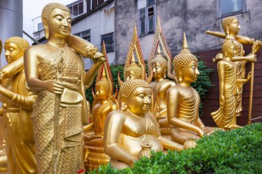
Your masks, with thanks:
[[[160,47],[157,49],[157,55],[150,61],[150,65],[155,79],[165,78],[168,61],[162,56]]]

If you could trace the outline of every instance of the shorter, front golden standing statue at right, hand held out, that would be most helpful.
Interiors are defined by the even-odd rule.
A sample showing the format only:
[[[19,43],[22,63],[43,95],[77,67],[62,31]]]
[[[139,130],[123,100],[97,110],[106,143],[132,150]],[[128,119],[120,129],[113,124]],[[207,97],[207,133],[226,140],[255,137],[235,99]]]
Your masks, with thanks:
[[[256,46],[258,44],[256,43]],[[256,47],[252,47],[254,52]],[[211,113],[214,122],[219,128],[234,129],[240,126],[236,124],[236,100],[239,93],[237,84],[246,83],[251,78],[251,72],[247,79],[237,79],[236,64],[231,59],[236,54],[234,43],[229,39],[222,46],[223,60],[217,63],[219,72],[219,110]]]

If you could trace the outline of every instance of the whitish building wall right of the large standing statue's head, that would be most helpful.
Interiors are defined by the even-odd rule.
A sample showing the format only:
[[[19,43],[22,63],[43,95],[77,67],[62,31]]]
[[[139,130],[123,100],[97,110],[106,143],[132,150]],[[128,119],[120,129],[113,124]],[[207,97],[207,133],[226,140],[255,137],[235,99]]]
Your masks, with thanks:
[[[101,35],[114,32],[114,2],[88,15],[72,25],[72,34],[90,30],[90,41],[101,50]],[[109,62],[114,64],[114,52],[108,53]],[[84,60],[85,69],[90,69],[92,61]]]

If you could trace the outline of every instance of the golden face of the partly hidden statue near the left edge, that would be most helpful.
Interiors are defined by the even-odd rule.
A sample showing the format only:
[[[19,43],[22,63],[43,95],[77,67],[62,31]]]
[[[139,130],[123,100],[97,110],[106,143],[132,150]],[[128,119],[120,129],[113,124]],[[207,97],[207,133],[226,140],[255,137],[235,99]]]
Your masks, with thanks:
[[[17,44],[15,43],[5,43],[4,48],[6,50],[5,52],[5,56],[6,56],[6,61],[8,63],[11,63],[15,60],[17,60],[17,58],[23,56],[23,52],[21,51],[20,47],[17,46]]]

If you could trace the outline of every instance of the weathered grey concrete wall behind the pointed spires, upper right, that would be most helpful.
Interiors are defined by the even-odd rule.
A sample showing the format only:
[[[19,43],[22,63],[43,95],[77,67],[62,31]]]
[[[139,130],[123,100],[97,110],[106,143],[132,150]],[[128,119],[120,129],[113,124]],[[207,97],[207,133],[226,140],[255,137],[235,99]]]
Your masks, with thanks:
[[[132,38],[134,25],[138,23],[137,6],[144,0],[115,0],[116,63],[125,63],[125,56]],[[240,33],[254,39],[262,38],[262,1],[246,0],[246,12],[234,15],[239,18]],[[170,50],[176,55],[181,50],[183,32],[186,33],[192,52],[221,47],[222,39],[205,34],[206,30],[223,32],[218,18],[219,0],[156,0],[156,15]],[[143,56],[148,58],[153,35],[141,36]]]

